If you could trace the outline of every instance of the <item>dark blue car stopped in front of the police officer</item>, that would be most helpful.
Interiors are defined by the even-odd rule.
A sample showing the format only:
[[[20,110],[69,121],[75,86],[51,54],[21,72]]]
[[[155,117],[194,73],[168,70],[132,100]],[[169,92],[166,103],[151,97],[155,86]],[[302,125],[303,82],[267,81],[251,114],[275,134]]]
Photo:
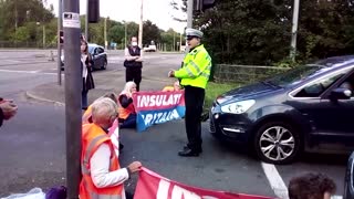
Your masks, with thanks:
[[[210,132],[250,146],[267,163],[354,149],[354,56],[335,56],[217,97]]]

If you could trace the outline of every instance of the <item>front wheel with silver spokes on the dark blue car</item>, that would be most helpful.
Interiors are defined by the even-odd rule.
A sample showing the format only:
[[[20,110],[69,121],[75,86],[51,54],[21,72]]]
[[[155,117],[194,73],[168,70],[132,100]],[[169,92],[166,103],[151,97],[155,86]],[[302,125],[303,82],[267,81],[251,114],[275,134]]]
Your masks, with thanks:
[[[289,164],[300,151],[300,136],[289,124],[266,123],[256,134],[254,149],[266,163]]]

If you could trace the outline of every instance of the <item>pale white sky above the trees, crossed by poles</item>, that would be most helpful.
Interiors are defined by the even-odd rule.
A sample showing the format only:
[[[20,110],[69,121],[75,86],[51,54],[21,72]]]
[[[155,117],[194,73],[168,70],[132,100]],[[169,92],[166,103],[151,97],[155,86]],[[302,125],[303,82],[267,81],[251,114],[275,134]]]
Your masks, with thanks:
[[[80,0],[80,14],[86,13],[86,1]],[[173,15],[185,18],[181,11],[176,11],[169,4],[170,0],[143,0],[144,21],[150,20],[158,28],[167,31],[169,28],[177,32],[184,32],[187,23],[173,20]],[[58,15],[59,0],[48,0],[49,4],[54,6],[54,13]],[[110,17],[115,21],[134,21],[138,23],[140,18],[140,0],[100,0],[101,17]]]

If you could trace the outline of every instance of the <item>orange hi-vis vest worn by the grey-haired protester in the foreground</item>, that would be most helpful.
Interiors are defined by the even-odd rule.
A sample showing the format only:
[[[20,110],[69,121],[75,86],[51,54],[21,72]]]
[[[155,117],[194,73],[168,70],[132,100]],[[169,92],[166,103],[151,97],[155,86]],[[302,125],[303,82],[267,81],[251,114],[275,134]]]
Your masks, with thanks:
[[[119,169],[118,158],[114,153],[110,136],[95,124],[84,124],[82,127],[82,153],[80,199],[122,199],[123,185],[97,188],[91,178],[90,160],[102,144],[111,148],[110,171]]]

